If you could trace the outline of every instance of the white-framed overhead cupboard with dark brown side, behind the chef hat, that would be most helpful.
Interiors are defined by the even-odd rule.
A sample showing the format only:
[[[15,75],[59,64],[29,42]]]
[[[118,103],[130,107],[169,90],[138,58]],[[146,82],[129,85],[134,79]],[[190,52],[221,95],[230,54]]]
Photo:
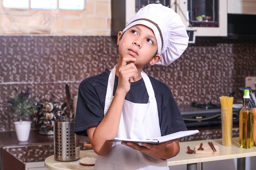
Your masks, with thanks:
[[[111,35],[117,35],[132,15],[151,3],[175,10],[195,36],[227,36],[227,0],[112,0]]]

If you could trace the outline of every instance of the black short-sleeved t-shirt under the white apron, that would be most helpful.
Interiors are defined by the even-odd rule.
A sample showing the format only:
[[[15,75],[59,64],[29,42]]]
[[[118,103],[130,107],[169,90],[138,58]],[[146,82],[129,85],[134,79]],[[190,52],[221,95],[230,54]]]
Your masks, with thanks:
[[[109,74],[110,70],[106,69],[101,74],[91,76],[81,82],[74,126],[74,133],[77,135],[88,136],[86,129],[98,126],[103,119]],[[157,100],[161,135],[187,130],[171,90],[161,81],[151,76],[149,79]],[[118,77],[116,76],[113,95],[117,84]],[[126,94],[125,99],[135,103],[148,102],[148,93],[142,78],[131,83],[130,91]]]

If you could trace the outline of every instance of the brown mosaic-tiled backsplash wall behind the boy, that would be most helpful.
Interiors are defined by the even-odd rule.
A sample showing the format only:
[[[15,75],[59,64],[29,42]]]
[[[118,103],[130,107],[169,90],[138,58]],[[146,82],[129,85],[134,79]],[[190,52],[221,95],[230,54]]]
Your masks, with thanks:
[[[15,87],[31,87],[32,96],[65,96],[67,83],[73,97],[84,78],[111,69],[117,59],[116,38],[108,36],[0,36],[0,131],[14,130],[16,119],[4,105]],[[256,40],[219,37],[197,37],[168,67],[144,69],[170,87],[178,105],[216,103],[231,92],[240,99],[238,88],[255,70]]]

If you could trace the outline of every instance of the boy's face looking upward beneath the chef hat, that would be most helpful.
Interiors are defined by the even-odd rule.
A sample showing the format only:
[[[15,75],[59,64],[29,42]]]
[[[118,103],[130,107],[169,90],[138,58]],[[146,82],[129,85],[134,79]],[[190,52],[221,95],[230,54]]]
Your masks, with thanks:
[[[117,37],[120,57],[132,56],[136,58],[135,65],[143,68],[146,64],[157,63],[161,56],[157,52],[157,40],[153,31],[144,25],[135,25]],[[155,57],[154,57],[155,56]]]

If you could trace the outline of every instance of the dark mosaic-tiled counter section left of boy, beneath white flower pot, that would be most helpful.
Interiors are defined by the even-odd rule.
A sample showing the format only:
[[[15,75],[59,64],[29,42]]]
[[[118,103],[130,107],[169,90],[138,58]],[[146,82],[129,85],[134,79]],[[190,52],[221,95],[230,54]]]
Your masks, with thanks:
[[[85,150],[83,144],[88,142],[88,137],[80,137],[80,150]],[[25,163],[44,161],[54,154],[54,135],[40,135],[38,130],[31,130],[29,140],[19,142],[15,131],[0,132],[0,148],[1,170],[14,166],[13,162],[16,162],[20,169],[25,169]],[[17,167],[13,168],[18,170]]]

